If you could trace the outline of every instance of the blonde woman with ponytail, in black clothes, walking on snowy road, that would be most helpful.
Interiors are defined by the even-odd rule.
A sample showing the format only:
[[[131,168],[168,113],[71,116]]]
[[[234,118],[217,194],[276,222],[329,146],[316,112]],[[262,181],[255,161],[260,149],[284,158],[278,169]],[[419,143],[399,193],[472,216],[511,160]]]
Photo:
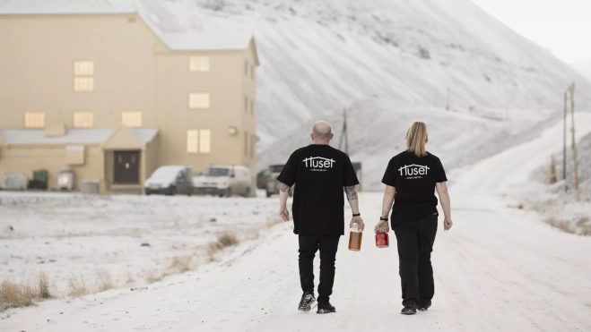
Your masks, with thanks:
[[[386,184],[382,217],[375,228],[376,232],[378,228],[388,228],[387,215],[392,209],[404,305],[401,313],[405,315],[429,309],[435,293],[430,261],[439,216],[435,190],[445,215],[443,228],[448,231],[453,226],[448,178],[439,157],[425,150],[427,141],[427,124],[413,123],[406,133],[406,150],[387,165],[382,179]]]

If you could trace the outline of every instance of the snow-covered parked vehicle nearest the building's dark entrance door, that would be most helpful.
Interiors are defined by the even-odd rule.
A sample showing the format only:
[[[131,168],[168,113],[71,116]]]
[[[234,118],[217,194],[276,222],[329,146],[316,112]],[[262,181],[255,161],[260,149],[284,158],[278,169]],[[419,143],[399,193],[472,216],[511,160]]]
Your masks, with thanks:
[[[146,195],[154,193],[172,196],[180,193],[191,196],[193,193],[191,167],[161,166],[143,183],[143,191]]]

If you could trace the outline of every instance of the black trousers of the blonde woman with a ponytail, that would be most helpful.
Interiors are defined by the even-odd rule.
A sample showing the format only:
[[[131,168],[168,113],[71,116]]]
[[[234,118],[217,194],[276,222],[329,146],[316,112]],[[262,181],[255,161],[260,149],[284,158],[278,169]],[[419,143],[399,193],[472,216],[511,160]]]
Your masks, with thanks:
[[[402,303],[426,305],[435,293],[431,251],[437,234],[437,215],[393,228],[400,260]]]

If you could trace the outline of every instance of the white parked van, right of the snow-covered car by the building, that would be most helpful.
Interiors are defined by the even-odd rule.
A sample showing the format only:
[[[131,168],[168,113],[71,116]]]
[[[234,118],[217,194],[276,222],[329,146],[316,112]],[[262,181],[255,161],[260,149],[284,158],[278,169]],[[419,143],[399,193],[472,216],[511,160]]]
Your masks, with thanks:
[[[252,178],[246,166],[209,166],[202,175],[193,178],[197,194],[230,197],[240,194],[249,197],[252,191]]]

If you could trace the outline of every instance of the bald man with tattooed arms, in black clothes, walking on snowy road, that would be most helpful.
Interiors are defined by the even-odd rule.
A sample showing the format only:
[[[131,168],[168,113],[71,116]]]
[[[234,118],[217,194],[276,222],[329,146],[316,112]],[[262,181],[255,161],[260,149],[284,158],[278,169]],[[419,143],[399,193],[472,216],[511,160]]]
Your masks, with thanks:
[[[339,239],[344,234],[343,188],[351,205],[351,224],[363,229],[355,185],[359,184],[349,156],[332,148],[330,125],[324,121],[314,124],[312,144],[295,150],[277,180],[279,215],[290,219],[287,197],[295,184],[293,204],[293,233],[300,241],[300,285],[303,291],[298,310],[310,311],[314,296],[314,257],[320,251],[320,284],[317,313],[336,312],[330,303],[335,283],[335,256]]]

